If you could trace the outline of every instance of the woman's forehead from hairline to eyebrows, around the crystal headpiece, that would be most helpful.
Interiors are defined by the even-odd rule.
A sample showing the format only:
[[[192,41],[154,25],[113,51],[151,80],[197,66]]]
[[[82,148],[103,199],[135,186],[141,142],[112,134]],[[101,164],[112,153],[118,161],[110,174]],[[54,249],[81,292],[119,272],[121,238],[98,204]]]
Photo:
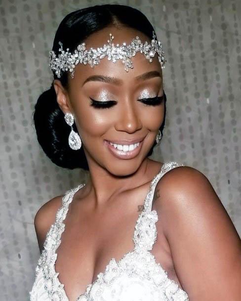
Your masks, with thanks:
[[[151,39],[148,38],[145,34],[131,28],[123,27],[121,29],[117,29],[115,27],[107,27],[98,32],[91,34],[84,42],[86,49],[103,47],[104,44],[108,44],[108,40],[110,40],[109,34],[112,34],[114,39],[112,40],[112,44],[114,43],[122,45],[122,43],[129,44],[131,41],[138,36],[142,43],[146,41],[151,43]],[[161,72],[161,64],[158,60],[157,53],[155,57],[152,58],[153,61],[149,62],[148,59],[145,58],[145,55],[140,52],[136,52],[134,56],[131,57],[131,61],[133,64],[133,69],[127,68],[128,72],[124,70],[124,64],[121,59],[118,59],[115,63],[112,60],[108,60],[107,57],[100,59],[100,63],[98,65],[94,65],[93,68],[89,64],[78,64],[75,67],[74,79],[71,79],[69,76],[69,81],[71,85],[75,83],[84,83],[87,78],[97,75],[103,75],[113,78],[118,78],[120,83],[134,83],[136,82],[136,77],[142,75],[143,73],[157,71],[160,74]]]

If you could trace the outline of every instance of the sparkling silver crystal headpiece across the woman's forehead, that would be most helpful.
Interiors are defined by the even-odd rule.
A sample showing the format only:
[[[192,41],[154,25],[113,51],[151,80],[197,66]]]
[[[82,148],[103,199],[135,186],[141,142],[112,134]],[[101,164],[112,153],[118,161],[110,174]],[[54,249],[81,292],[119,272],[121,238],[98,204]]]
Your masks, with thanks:
[[[59,42],[59,55],[56,56],[53,50],[49,51],[49,66],[51,70],[55,72],[58,78],[61,77],[61,71],[70,71],[71,77],[74,78],[74,69],[75,66],[79,63],[84,65],[89,64],[92,67],[100,63],[100,59],[105,56],[108,57],[108,60],[112,60],[114,63],[116,60],[121,59],[124,64],[124,70],[128,72],[128,68],[133,68],[131,57],[136,54],[136,52],[143,53],[150,62],[152,62],[152,57],[155,56],[155,53],[158,53],[158,59],[161,64],[161,68],[164,68],[166,62],[164,52],[162,51],[162,43],[156,39],[156,35],[153,31],[153,39],[151,43],[141,42],[138,36],[131,41],[130,44],[126,45],[115,45],[112,43],[114,36],[110,33],[110,40],[108,44],[104,44],[103,47],[90,48],[86,50],[85,43],[78,45],[74,53],[69,52],[69,48],[63,50],[63,44]]]

